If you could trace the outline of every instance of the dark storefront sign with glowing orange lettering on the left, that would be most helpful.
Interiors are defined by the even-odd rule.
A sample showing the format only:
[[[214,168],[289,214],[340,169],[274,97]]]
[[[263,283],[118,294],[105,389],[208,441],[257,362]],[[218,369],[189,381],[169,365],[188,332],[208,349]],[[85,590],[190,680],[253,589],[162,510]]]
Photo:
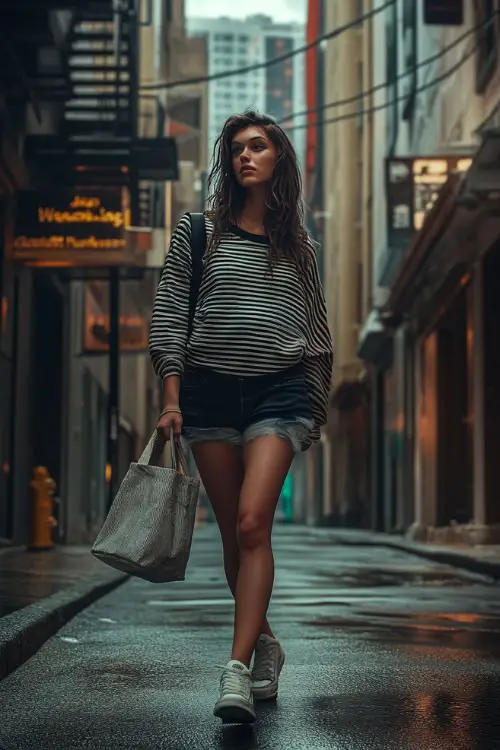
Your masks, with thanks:
[[[85,263],[109,262],[126,250],[129,225],[127,194],[121,189],[25,191],[17,200],[11,254],[74,265],[82,257]]]

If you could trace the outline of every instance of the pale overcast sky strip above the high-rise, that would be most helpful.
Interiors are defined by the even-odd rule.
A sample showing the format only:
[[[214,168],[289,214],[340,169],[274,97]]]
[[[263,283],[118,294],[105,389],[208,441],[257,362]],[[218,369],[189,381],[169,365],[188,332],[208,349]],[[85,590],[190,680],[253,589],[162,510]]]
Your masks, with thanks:
[[[251,3],[238,3],[237,0],[186,0],[186,13],[189,16],[232,16],[245,18],[249,14],[265,13],[277,21],[299,21],[304,23],[307,0],[252,0]]]

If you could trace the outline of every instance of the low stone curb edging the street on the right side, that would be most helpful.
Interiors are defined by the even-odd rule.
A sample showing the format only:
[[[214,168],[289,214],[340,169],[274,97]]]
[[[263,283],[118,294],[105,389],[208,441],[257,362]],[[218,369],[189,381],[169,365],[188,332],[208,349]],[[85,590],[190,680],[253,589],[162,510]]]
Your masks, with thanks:
[[[431,545],[377,539],[376,536],[367,539],[356,539],[355,537],[347,539],[342,536],[336,536],[335,533],[332,534],[330,539],[336,544],[349,547],[386,547],[387,549],[397,549],[401,552],[407,552],[410,555],[417,555],[418,557],[424,557],[427,560],[441,563],[442,565],[450,565],[453,568],[460,568],[469,573],[487,576],[495,582],[500,581],[500,562],[482,560],[481,558],[473,557],[463,552],[448,550],[443,547],[435,548]]]

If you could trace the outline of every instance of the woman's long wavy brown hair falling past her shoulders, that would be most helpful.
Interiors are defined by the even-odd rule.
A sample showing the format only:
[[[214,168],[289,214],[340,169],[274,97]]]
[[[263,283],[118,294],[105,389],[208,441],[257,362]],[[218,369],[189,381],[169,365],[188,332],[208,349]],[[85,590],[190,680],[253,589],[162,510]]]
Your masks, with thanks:
[[[233,169],[232,142],[240,130],[262,128],[276,147],[276,166],[269,183],[264,229],[269,241],[269,267],[282,259],[293,261],[304,271],[310,259],[308,234],[304,226],[302,180],[295,150],[286,133],[274,120],[254,111],[233,115],[226,120],[218,137],[213,166],[208,176],[207,216],[214,231],[207,255],[217,248],[230,224],[238,224],[245,205],[245,189],[238,183]]]

